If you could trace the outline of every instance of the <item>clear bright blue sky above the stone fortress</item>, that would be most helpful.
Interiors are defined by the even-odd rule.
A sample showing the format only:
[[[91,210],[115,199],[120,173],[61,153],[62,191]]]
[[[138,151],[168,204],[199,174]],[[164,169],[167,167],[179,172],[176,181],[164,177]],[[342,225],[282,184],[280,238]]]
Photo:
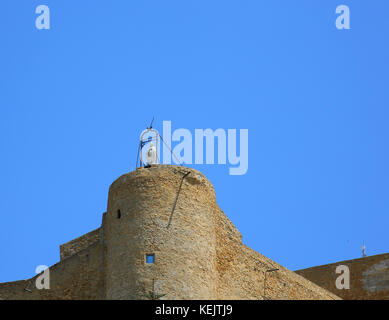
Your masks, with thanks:
[[[48,5],[50,30],[35,28]],[[335,28],[349,5],[351,30]],[[191,165],[243,241],[292,269],[389,251],[386,0],[3,0],[0,282],[101,224],[154,116],[249,130],[249,169]]]

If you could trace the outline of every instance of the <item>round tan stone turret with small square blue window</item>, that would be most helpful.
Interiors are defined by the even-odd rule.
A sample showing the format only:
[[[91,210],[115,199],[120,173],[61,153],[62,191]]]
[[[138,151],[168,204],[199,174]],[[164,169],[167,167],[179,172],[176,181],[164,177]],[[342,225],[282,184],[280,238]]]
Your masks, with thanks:
[[[194,169],[153,165],[118,178],[103,222],[106,298],[216,299],[215,206]]]

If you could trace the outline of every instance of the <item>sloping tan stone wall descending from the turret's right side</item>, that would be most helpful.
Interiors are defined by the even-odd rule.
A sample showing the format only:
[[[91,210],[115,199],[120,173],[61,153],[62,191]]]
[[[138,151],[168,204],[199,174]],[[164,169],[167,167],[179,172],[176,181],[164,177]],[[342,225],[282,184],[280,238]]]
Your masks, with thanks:
[[[218,299],[339,299],[242,244],[239,231],[227,216],[220,208],[216,212]],[[278,270],[267,272],[274,269]]]

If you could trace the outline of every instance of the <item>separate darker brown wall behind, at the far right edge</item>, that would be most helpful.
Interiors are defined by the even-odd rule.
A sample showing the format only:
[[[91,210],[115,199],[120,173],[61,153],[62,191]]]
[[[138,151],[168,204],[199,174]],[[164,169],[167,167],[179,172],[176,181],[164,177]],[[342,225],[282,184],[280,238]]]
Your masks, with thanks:
[[[336,267],[350,271],[350,289],[337,289]],[[298,270],[297,274],[346,300],[389,299],[389,253]]]

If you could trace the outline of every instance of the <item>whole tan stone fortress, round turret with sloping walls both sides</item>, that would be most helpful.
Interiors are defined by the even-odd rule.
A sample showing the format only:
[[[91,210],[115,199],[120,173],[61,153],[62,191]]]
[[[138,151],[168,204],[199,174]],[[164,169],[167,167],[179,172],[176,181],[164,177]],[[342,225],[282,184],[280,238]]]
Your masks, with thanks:
[[[182,166],[119,177],[101,226],[60,257],[50,289],[36,288],[37,275],[0,283],[0,299],[338,299],[244,245],[212,184]]]

